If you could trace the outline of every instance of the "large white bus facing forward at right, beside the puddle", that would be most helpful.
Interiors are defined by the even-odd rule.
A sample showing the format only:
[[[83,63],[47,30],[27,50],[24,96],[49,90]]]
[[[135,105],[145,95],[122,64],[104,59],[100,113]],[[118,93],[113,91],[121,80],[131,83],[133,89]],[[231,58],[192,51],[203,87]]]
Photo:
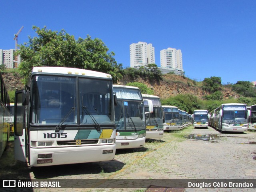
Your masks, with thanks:
[[[214,110],[214,125],[220,132],[246,131],[248,129],[246,104],[221,104]]]

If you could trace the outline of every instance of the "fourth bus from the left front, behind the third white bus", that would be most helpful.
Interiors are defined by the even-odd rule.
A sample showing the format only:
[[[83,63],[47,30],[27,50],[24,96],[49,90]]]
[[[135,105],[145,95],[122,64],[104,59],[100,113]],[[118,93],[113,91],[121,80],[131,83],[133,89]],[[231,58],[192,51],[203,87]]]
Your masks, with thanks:
[[[182,120],[180,119],[178,107],[163,105],[162,108],[164,110],[164,130],[182,129]]]

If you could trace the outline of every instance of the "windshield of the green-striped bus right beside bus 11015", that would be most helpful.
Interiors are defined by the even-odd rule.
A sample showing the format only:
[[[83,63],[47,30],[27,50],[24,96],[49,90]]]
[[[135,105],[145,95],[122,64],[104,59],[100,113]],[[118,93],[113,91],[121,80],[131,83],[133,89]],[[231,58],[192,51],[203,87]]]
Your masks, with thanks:
[[[115,107],[116,129],[139,131],[145,129],[143,102],[118,101]]]

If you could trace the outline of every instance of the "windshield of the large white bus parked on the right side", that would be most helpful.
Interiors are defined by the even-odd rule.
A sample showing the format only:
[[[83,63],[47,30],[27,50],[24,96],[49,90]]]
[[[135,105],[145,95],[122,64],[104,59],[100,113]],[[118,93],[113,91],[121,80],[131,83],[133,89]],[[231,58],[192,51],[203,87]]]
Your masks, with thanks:
[[[247,123],[246,111],[223,110],[224,123]]]

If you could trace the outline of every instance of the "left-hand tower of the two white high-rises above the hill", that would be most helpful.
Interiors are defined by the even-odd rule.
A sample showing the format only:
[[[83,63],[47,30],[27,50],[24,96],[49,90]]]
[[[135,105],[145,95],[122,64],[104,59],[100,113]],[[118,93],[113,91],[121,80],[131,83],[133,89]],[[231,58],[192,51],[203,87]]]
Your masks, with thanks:
[[[130,45],[130,67],[139,68],[147,64],[155,63],[155,48],[145,42]]]

